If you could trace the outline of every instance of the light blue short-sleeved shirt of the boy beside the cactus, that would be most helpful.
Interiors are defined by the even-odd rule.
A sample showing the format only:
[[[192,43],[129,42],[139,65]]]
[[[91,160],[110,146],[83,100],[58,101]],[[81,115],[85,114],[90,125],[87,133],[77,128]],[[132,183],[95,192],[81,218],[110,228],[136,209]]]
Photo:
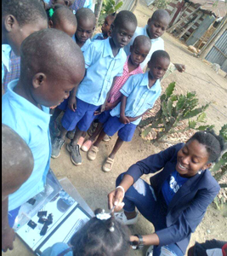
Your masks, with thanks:
[[[137,117],[149,108],[153,108],[156,99],[161,95],[162,88],[159,79],[149,88],[148,72],[131,76],[120,90],[122,95],[127,96],[125,116]],[[120,118],[121,102],[111,110],[111,116]],[[139,118],[132,122],[139,125]]]

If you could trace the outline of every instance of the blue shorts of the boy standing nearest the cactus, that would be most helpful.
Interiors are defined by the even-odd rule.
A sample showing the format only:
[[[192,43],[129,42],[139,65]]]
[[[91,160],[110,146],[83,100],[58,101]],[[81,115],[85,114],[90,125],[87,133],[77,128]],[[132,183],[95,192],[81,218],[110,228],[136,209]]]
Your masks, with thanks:
[[[118,131],[118,137],[120,137],[123,142],[131,142],[136,126],[137,125],[132,123],[124,125],[120,122],[118,117],[111,116],[104,125],[104,132],[111,137]]]

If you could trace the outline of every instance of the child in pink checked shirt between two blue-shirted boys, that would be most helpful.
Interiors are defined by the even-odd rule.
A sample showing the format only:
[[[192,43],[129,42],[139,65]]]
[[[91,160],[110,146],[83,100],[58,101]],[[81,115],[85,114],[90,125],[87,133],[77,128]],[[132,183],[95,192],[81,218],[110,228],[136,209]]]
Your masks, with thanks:
[[[105,112],[101,113],[98,117],[99,124],[94,134],[88,138],[88,141],[83,143],[82,151],[87,152],[91,145],[94,143],[95,138],[99,135],[103,125],[111,116],[111,109],[115,108],[116,105],[121,102],[123,84],[134,74],[143,73],[142,68],[139,66],[140,63],[145,61],[146,55],[150,51],[150,40],[145,36],[138,36],[135,38],[133,45],[131,46],[131,55],[128,56],[128,60],[124,64],[122,77],[117,77],[114,81],[113,88],[111,89],[110,96],[105,105]],[[89,157],[92,157],[91,155]],[[89,158],[88,157],[88,158]]]

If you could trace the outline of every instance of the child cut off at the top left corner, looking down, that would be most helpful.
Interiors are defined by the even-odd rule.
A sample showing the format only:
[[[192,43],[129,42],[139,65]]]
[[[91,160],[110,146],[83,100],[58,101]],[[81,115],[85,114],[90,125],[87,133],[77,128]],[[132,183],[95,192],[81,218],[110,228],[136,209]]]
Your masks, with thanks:
[[[20,56],[22,41],[32,32],[48,27],[45,10],[37,0],[3,0],[2,1],[2,84],[6,90],[5,76],[10,72],[12,78],[18,79],[18,63],[10,64],[10,55]],[[16,64],[16,65],[14,65]],[[3,90],[3,88],[2,88]]]

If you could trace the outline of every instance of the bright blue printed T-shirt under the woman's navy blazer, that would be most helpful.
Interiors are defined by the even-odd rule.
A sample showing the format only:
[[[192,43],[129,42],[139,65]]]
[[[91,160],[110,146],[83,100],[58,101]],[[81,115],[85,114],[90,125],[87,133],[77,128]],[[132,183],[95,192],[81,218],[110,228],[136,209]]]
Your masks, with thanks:
[[[165,198],[167,206],[172,201],[173,196],[178,192],[180,187],[188,180],[188,177],[181,177],[179,172],[174,171],[162,185],[162,195]]]

